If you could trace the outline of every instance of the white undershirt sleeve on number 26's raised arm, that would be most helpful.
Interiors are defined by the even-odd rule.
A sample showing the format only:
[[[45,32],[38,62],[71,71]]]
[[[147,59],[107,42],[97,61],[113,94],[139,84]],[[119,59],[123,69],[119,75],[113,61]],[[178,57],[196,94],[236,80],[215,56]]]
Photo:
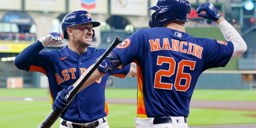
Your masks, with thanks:
[[[244,39],[231,24],[224,20],[220,22],[218,26],[226,41],[231,41],[234,44],[234,52],[231,58],[239,56],[247,50],[247,45],[244,42]]]

